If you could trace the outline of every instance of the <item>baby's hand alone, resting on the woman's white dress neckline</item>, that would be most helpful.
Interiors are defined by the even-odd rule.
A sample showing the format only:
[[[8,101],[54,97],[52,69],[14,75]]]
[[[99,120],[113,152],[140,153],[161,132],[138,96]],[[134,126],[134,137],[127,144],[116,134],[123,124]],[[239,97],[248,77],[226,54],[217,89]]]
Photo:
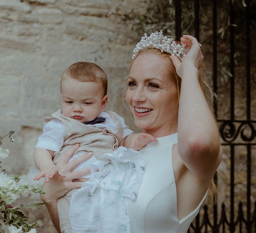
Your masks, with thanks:
[[[158,142],[158,140],[151,134],[134,133],[130,148],[134,150],[139,150],[151,141]]]

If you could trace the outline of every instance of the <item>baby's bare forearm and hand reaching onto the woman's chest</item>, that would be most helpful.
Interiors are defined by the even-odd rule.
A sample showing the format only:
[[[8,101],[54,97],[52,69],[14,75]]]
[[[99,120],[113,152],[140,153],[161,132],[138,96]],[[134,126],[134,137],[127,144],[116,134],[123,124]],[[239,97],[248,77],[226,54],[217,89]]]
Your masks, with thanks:
[[[139,150],[151,141],[158,142],[154,136],[148,133],[131,133],[127,137],[123,138],[119,145]]]

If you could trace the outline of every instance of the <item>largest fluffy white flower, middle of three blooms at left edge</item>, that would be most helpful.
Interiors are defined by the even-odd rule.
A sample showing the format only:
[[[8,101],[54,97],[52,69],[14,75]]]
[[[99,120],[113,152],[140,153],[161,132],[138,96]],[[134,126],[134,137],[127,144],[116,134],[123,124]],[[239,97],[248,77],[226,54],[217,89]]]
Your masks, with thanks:
[[[8,188],[8,186],[10,186]],[[12,189],[16,187],[16,182],[7,174],[4,174],[3,172],[0,173],[0,187],[6,187],[8,189]],[[0,199],[5,201],[6,204],[11,204],[13,201],[15,201],[20,196],[17,194],[14,194],[12,192],[3,193],[2,190],[0,190]],[[10,200],[11,199],[11,200]]]

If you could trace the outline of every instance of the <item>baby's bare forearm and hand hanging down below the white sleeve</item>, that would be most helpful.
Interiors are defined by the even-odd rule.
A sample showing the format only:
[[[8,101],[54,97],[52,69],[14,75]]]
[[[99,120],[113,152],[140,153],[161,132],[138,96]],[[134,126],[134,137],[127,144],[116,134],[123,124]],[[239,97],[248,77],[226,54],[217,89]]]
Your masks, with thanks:
[[[34,177],[34,180],[39,180],[45,177],[45,181],[48,182],[56,173],[65,177],[63,172],[53,163],[54,151],[43,148],[36,148],[34,152],[34,161],[40,172]]]

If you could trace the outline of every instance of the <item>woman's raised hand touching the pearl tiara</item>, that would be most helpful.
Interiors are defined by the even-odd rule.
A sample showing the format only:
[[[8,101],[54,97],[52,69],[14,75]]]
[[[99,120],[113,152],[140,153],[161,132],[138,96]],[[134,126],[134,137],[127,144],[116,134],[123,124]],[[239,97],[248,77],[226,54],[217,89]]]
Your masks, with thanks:
[[[202,67],[203,55],[201,53],[199,43],[195,37],[184,35],[181,37],[180,41],[181,44],[187,45],[189,52],[186,54],[182,62],[174,55],[171,55],[170,58],[176,68],[178,76],[182,79],[185,69],[196,68],[199,70]]]

